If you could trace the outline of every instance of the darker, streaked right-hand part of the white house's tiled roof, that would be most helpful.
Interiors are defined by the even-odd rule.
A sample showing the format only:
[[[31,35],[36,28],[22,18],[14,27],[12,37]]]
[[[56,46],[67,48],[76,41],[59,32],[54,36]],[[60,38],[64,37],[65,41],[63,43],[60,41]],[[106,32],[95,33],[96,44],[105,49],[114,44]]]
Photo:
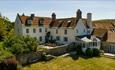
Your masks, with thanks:
[[[87,19],[82,19],[84,25],[87,27]],[[75,27],[77,25],[78,19],[76,17],[72,18],[62,18],[56,19],[50,23],[51,27]]]

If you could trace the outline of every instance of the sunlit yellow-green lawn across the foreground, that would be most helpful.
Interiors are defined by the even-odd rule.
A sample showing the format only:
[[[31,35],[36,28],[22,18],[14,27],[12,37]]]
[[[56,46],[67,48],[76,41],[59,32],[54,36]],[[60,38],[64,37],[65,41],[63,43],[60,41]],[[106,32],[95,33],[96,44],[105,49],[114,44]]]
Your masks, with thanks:
[[[28,65],[23,70],[115,70],[115,60],[106,57],[73,59],[60,56],[48,62]]]

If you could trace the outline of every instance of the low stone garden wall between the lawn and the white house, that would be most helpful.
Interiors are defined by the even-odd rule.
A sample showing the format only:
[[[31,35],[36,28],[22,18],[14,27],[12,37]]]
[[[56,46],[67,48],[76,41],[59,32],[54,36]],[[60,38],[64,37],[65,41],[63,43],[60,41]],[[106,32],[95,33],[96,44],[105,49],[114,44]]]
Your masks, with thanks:
[[[68,48],[69,48],[69,46],[63,45],[63,46],[54,47],[52,49],[47,49],[45,51],[37,51],[37,52],[29,53],[29,54],[22,54],[22,55],[18,55],[17,56],[17,60],[21,64],[29,64],[29,63],[33,63],[33,62],[41,60],[42,59],[42,54],[44,52],[46,54],[50,54],[50,55],[54,55],[54,56],[59,56],[59,55],[67,53],[68,52],[67,51]]]

